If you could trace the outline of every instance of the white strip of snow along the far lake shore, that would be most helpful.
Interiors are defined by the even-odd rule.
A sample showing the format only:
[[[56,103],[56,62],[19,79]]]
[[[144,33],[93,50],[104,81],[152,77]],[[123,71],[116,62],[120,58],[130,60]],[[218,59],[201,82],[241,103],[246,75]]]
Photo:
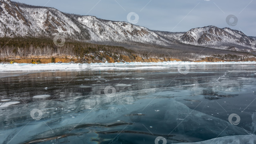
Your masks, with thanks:
[[[162,69],[179,64],[200,65],[200,64],[256,64],[256,62],[158,62],[158,63],[14,63],[0,64],[0,71],[27,71],[27,70],[88,70],[88,69]]]

